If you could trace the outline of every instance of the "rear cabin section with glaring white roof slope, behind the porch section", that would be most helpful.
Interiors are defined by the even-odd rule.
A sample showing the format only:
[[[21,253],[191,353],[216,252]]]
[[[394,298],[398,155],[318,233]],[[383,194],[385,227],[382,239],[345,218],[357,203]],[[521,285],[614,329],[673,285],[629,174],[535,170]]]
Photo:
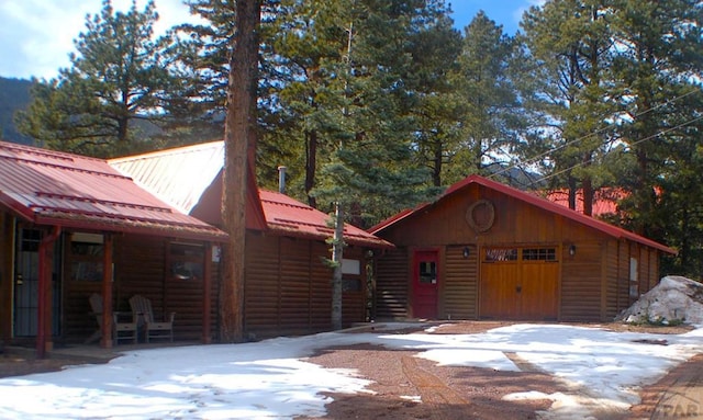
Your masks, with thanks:
[[[183,213],[213,226],[221,217],[224,143],[113,159],[110,163]],[[244,331],[252,339],[332,329],[332,270],[324,259],[330,216],[281,192],[248,189]],[[370,317],[367,253],[392,245],[345,225],[343,325]]]

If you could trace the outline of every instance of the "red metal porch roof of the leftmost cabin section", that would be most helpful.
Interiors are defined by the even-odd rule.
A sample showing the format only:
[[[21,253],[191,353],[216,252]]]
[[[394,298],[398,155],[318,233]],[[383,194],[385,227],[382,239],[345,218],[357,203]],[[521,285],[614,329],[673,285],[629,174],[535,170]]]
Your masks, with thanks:
[[[105,160],[0,141],[0,204],[40,225],[223,240]]]

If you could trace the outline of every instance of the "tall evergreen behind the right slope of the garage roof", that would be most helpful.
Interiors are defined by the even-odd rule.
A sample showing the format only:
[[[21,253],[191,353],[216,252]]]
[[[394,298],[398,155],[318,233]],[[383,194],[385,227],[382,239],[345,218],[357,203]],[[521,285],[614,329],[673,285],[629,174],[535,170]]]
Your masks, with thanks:
[[[584,213],[592,213],[594,190],[607,182],[601,161],[614,137],[615,117],[609,68],[615,46],[610,33],[610,0],[553,0],[533,7],[522,27],[542,87],[531,103],[545,114],[542,140],[551,148],[553,186],[583,191]]]

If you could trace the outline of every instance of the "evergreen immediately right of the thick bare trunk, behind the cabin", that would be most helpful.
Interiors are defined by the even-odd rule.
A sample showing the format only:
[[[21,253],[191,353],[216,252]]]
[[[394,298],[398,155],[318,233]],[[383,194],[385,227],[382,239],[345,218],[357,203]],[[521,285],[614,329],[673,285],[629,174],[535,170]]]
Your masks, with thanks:
[[[336,73],[347,55],[349,18],[344,1],[283,0],[271,32],[264,93],[266,130],[261,154],[267,172],[284,161],[290,188],[316,207],[311,194],[319,159],[338,145],[344,91]]]

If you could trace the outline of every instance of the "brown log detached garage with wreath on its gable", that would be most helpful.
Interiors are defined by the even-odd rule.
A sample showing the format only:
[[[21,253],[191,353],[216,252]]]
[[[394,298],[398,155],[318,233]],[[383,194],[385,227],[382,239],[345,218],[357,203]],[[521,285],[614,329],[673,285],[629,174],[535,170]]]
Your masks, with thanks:
[[[676,252],[479,175],[369,230],[377,319],[611,320]]]

